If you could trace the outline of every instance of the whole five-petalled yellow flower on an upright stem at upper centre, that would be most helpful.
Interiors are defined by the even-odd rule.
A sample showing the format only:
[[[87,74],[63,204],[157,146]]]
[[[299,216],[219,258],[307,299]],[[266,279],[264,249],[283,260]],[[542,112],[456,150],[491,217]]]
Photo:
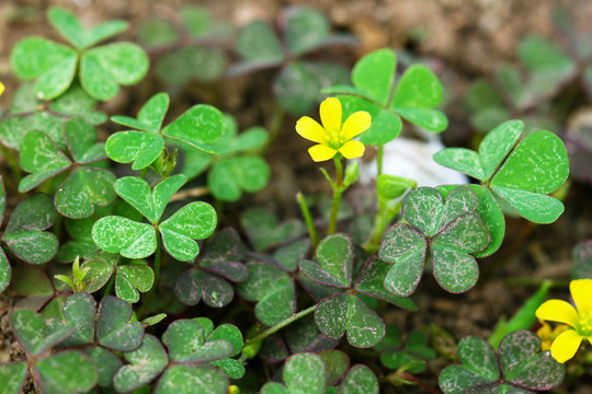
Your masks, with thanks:
[[[296,123],[296,132],[318,144],[308,150],[314,161],[320,162],[332,159],[338,152],[345,159],[355,159],[364,154],[364,144],[352,141],[352,138],[371,127],[371,116],[367,112],[358,111],[341,125],[341,103],[335,97],[329,97],[321,103],[320,115],[322,126],[308,116],[303,116]]]

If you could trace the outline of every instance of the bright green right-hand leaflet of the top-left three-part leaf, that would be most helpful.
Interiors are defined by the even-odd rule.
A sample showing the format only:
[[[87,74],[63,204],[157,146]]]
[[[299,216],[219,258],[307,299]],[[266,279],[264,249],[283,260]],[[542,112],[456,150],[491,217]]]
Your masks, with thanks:
[[[139,82],[148,71],[148,57],[132,43],[115,43],[82,55],[80,82],[94,99],[106,101],[119,91],[119,84]]]

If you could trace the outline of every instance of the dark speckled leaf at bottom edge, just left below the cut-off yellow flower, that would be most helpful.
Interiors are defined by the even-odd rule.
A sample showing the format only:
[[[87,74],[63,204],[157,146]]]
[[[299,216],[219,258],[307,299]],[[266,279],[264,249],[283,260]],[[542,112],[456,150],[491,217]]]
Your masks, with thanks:
[[[440,387],[446,394],[468,393],[475,387],[498,392],[551,390],[563,380],[565,368],[548,352],[540,352],[540,339],[531,332],[506,335],[499,355],[483,339],[466,337],[458,344],[462,366],[446,367],[440,374]]]

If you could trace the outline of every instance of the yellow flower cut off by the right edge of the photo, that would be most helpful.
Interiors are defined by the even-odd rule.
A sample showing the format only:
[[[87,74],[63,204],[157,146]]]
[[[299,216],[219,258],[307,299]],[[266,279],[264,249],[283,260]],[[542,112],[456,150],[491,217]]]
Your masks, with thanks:
[[[562,300],[546,301],[536,310],[538,318],[569,326],[550,347],[551,356],[559,362],[571,359],[583,339],[592,344],[592,279],[572,280],[569,291],[577,310]]]

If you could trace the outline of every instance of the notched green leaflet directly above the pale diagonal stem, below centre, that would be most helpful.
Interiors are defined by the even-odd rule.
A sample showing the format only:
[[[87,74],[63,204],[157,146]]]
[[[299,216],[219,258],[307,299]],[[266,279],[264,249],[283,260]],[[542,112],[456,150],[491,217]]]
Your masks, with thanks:
[[[284,271],[263,263],[249,263],[249,279],[236,289],[248,301],[258,301],[257,318],[269,326],[296,311],[294,281]]]

